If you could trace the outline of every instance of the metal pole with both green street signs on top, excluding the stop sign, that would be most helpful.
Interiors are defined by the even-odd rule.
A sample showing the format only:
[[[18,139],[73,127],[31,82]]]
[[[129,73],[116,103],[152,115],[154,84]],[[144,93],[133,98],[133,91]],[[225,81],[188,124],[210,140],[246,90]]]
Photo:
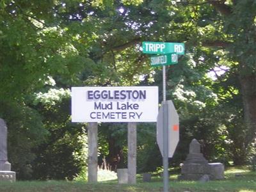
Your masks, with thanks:
[[[151,65],[152,66],[163,66],[163,184],[164,192],[168,191],[168,102],[166,102],[166,65],[175,64],[173,60],[177,60],[178,57],[175,54],[185,54],[185,45],[184,43],[171,43],[171,42],[142,42],[143,53],[145,54],[160,54],[158,56],[152,56]],[[172,53],[171,62],[168,60],[168,54]],[[170,64],[167,64],[170,63]],[[176,128],[177,129],[177,126]],[[178,128],[179,129],[179,128]]]

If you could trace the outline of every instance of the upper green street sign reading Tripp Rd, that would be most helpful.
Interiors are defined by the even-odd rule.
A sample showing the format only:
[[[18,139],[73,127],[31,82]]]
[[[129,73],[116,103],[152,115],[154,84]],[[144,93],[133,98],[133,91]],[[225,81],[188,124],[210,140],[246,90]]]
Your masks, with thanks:
[[[185,53],[185,45],[183,43],[142,42],[142,48],[143,53],[147,54]]]

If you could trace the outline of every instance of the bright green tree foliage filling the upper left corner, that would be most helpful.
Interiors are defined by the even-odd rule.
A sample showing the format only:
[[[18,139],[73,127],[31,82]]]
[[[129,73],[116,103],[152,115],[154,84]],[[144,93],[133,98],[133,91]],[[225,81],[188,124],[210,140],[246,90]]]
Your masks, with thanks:
[[[44,9],[51,8],[48,3],[22,1],[1,10],[1,100],[23,99],[48,76],[67,77],[81,68],[82,58],[67,31],[49,26]],[[37,15],[39,10],[44,14]]]

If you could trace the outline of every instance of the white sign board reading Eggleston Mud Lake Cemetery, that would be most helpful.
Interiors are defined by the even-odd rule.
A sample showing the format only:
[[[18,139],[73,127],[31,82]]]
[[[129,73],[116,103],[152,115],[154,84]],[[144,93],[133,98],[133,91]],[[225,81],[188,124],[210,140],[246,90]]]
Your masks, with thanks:
[[[72,87],[72,122],[156,122],[157,86]]]

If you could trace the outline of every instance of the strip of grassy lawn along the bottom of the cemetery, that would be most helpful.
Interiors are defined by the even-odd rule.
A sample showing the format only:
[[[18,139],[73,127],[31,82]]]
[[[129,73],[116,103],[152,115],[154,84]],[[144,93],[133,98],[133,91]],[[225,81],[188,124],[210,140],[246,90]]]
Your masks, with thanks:
[[[236,177],[239,174],[239,177]],[[198,191],[238,191],[256,192],[256,172],[245,168],[230,168],[225,172],[225,179],[214,180],[206,183],[195,181],[179,181],[177,175],[170,177],[170,191],[198,192]],[[138,176],[137,184],[117,184],[116,180],[88,184],[87,182],[68,181],[17,181],[1,182],[0,191],[10,192],[35,192],[35,191],[162,191],[163,182],[160,177],[153,177],[152,182],[142,182]]]

